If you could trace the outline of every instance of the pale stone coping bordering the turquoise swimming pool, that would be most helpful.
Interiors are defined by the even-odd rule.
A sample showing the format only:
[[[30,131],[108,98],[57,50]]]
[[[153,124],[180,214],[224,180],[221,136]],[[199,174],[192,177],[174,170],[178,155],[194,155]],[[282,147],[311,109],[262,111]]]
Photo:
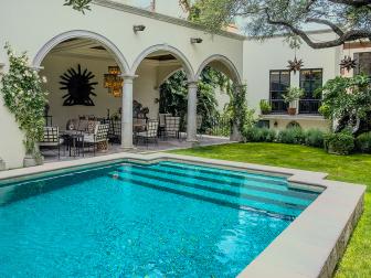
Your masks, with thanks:
[[[0,172],[0,180],[113,160],[177,160],[288,177],[290,186],[324,191],[239,277],[331,277],[363,212],[364,185],[325,180],[326,173],[172,153],[114,153]]]

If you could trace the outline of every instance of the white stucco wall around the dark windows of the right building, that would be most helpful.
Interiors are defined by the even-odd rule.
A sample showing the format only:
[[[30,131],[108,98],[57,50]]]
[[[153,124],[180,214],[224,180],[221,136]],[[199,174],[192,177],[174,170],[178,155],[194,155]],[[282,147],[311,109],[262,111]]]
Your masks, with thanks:
[[[329,40],[331,34],[312,35],[318,41]],[[340,74],[339,47],[314,50],[303,44],[297,58],[303,58],[304,68],[322,68],[324,84]],[[247,40],[244,43],[244,81],[247,83],[248,105],[259,113],[261,99],[269,98],[269,71],[287,70],[287,61],[294,60],[295,52],[284,38],[277,36],[264,41]],[[290,74],[290,85],[299,86],[299,73]]]

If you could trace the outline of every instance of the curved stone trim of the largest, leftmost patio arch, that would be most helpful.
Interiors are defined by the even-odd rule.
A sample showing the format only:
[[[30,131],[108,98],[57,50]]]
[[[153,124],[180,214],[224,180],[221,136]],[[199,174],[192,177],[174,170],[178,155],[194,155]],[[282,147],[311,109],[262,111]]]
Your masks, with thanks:
[[[108,52],[110,52],[116,63],[120,67],[121,72],[124,74],[129,74],[130,72],[129,65],[125,56],[123,55],[123,53],[119,51],[119,49],[107,38],[98,33],[94,33],[94,32],[85,31],[85,30],[67,31],[67,32],[64,32],[64,33],[61,33],[54,36],[40,49],[40,51],[38,52],[38,54],[35,55],[33,60],[32,65],[36,68],[40,67],[41,63],[43,62],[43,60],[45,58],[47,53],[50,53],[51,50],[53,50],[60,43],[63,43],[71,39],[89,39],[89,40],[99,42],[100,44],[107,47]]]

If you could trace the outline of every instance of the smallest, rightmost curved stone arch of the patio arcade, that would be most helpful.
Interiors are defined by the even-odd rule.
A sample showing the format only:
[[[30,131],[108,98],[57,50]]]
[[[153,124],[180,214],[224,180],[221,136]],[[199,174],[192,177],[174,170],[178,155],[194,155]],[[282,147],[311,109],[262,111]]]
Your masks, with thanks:
[[[220,54],[211,55],[210,57],[208,57],[202,62],[195,74],[197,81],[200,78],[203,68],[205,68],[205,66],[208,65],[227,75],[236,85],[242,84],[241,75],[235,65],[233,64],[233,62],[229,60],[226,56]]]

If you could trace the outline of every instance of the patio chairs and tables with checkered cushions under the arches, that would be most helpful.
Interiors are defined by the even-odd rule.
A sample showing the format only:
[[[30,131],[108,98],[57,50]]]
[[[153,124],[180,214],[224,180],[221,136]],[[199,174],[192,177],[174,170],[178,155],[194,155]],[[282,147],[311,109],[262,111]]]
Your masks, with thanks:
[[[180,117],[170,114],[159,114],[158,119],[132,119],[132,138],[134,143],[149,142],[158,145],[158,138],[181,139]],[[118,118],[95,118],[93,116],[82,116],[78,119],[71,119],[65,130],[59,127],[44,127],[43,140],[39,147],[43,149],[57,149],[57,157],[61,157],[61,150],[64,156],[78,157],[87,151],[93,151],[94,156],[97,150],[107,150],[108,142],[120,143],[121,141],[121,120]]]

